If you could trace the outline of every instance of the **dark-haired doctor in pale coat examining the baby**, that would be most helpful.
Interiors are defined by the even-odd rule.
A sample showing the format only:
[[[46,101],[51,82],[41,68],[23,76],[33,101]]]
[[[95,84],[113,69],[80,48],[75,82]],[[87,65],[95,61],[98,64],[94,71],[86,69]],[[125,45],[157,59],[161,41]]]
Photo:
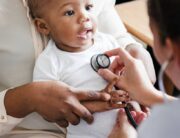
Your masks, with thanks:
[[[149,118],[139,126],[137,133],[121,110],[109,138],[180,137],[180,100],[166,94],[163,96],[162,83],[163,74],[166,73],[180,89],[180,1],[148,0],[148,13],[154,35],[154,54],[162,67],[159,74],[162,92],[153,87],[139,60],[123,49],[108,51],[107,55],[118,56],[111,70],[120,71],[121,75],[115,75],[108,70],[100,70],[99,73],[109,81],[119,77],[117,87],[126,90],[130,97],[139,103],[150,107],[156,105]],[[133,114],[136,120],[142,117],[141,113]]]

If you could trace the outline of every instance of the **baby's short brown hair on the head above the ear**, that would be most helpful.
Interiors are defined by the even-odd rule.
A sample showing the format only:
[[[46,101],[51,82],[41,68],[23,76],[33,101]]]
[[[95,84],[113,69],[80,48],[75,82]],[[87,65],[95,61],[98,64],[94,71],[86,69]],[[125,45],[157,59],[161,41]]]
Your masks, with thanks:
[[[26,0],[33,19],[41,17],[43,10],[51,0]]]

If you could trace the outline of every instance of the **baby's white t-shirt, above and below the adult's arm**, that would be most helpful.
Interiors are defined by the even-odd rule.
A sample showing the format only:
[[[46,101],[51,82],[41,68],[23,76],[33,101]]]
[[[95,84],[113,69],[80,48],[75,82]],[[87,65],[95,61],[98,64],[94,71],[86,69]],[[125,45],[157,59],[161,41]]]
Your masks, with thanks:
[[[96,33],[94,44],[77,53],[62,51],[50,40],[37,59],[33,78],[35,81],[62,81],[81,90],[100,91],[107,82],[92,69],[91,57],[118,47],[119,44],[112,36],[103,33]],[[106,138],[115,124],[116,115],[117,110],[95,113],[91,125],[83,120],[77,126],[70,125],[67,138]]]

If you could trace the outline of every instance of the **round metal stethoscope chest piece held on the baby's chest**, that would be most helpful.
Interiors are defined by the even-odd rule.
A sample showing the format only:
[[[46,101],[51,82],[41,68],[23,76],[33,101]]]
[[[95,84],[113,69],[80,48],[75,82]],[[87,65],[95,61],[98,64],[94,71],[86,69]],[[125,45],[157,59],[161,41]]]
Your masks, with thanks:
[[[97,54],[91,58],[91,66],[97,72],[99,69],[105,69],[110,66],[110,59],[105,54]]]

